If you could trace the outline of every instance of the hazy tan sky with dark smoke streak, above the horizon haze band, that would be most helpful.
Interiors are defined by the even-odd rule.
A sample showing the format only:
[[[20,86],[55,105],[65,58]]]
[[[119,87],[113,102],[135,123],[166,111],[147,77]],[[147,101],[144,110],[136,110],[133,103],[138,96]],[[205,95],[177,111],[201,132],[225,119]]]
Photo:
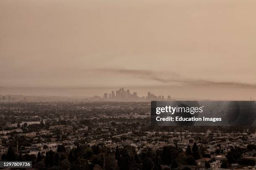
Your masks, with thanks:
[[[1,0],[0,86],[256,89],[255,0]]]

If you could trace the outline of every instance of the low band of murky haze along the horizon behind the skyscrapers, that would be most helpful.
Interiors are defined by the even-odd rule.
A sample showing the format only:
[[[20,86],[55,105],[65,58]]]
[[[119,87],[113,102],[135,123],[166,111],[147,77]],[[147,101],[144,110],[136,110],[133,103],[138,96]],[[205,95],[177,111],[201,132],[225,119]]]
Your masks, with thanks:
[[[120,87],[109,88],[1,88],[0,95],[24,96],[66,96],[66,97],[102,97],[102,94],[115,91]],[[200,86],[162,86],[159,87],[124,87],[138,96],[146,96],[150,91],[156,95],[171,95],[177,100],[249,100],[256,99],[256,89],[236,86],[200,87]],[[221,94],[221,95],[220,95]]]

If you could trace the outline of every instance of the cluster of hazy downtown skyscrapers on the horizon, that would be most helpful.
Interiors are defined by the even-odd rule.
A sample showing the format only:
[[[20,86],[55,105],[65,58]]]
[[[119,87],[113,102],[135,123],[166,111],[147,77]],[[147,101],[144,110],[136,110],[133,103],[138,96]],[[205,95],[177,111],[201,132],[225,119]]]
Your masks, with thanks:
[[[94,98],[100,99],[100,96],[94,96]],[[119,90],[112,91],[111,93],[104,93],[104,100],[127,100],[127,101],[151,101],[151,100],[165,100],[163,95],[156,96],[151,92],[148,92],[148,96],[139,97],[137,92],[131,93],[130,90],[124,90],[120,88]],[[171,100],[171,96],[168,95],[167,100]]]

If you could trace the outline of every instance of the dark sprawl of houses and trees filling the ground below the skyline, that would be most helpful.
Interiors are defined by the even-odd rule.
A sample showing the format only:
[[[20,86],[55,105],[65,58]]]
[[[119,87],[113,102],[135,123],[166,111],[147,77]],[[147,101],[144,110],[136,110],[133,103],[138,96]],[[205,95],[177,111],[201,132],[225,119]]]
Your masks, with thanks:
[[[150,102],[1,102],[1,160],[36,169],[254,169],[255,127],[152,127]]]

